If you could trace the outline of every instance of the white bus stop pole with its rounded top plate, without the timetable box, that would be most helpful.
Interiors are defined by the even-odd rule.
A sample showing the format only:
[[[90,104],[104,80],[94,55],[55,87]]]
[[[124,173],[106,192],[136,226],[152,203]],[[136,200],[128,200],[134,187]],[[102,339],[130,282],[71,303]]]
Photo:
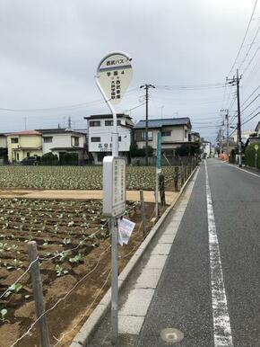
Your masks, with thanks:
[[[112,156],[118,156],[117,113],[112,105],[121,101],[132,78],[132,59],[125,52],[112,52],[102,58],[95,82],[113,115]],[[110,96],[108,98],[108,95]],[[104,168],[103,168],[104,170]],[[104,188],[103,188],[104,189]],[[111,186],[109,193],[112,194]],[[106,192],[105,192],[106,193]],[[111,342],[117,344],[118,336],[118,223],[110,217],[111,235]]]

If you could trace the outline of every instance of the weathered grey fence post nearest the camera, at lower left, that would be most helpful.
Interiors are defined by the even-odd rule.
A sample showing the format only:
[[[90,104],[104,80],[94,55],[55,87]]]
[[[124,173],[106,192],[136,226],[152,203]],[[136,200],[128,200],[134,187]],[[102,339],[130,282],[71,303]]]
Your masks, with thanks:
[[[30,241],[28,243],[29,249],[29,260],[33,262],[30,268],[31,273],[31,282],[32,282],[32,291],[33,298],[35,302],[35,309],[37,318],[39,319],[39,332],[40,332],[40,345],[41,347],[49,347],[49,338],[48,338],[48,325],[46,316],[42,316],[45,313],[45,305],[43,301],[42,293],[42,283],[39,272],[39,262],[34,262],[38,257],[37,244],[35,241]]]

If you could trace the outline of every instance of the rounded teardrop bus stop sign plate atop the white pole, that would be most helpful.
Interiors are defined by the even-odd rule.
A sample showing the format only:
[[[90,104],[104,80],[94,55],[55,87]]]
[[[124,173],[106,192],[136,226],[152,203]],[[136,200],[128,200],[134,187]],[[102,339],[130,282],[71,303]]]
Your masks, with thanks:
[[[112,53],[100,62],[98,67],[99,83],[109,102],[121,102],[130,85],[133,69],[126,55]]]

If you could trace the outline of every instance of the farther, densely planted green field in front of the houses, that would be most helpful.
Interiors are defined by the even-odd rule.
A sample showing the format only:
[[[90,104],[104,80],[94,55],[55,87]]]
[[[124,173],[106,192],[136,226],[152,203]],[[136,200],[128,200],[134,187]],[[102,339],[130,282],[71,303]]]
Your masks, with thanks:
[[[174,167],[162,168],[166,187],[171,185]],[[155,168],[128,166],[126,189],[153,191]],[[0,166],[0,188],[43,190],[101,190],[101,166]]]

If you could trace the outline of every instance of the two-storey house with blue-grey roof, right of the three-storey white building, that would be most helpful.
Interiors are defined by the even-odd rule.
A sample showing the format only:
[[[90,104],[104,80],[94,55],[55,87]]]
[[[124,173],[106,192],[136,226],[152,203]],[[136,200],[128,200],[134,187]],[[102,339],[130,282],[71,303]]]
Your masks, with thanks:
[[[138,148],[145,147],[145,120],[134,125],[134,141]],[[188,117],[148,120],[148,145],[153,152],[157,148],[157,134],[161,133],[161,150],[165,155],[173,155],[175,148],[191,143],[191,122]]]

